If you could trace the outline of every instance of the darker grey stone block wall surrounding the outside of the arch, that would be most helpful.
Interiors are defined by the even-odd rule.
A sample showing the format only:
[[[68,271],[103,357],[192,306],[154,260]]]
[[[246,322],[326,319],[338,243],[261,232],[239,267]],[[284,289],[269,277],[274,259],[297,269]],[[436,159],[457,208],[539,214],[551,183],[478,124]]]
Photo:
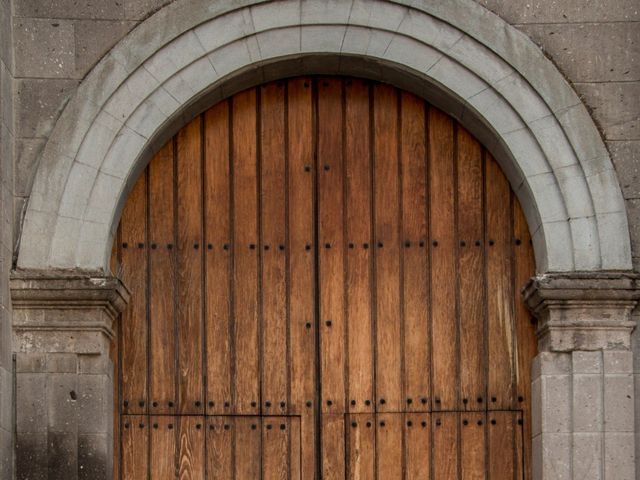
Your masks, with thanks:
[[[0,0],[0,478],[11,478],[8,272],[39,154],[93,65],[170,0]],[[640,271],[640,6],[637,0],[479,0],[529,35],[591,110],[619,174]],[[635,337],[640,398],[640,334]],[[637,410],[640,410],[638,408]],[[636,422],[640,432],[640,415]],[[640,458],[640,438],[636,442]]]

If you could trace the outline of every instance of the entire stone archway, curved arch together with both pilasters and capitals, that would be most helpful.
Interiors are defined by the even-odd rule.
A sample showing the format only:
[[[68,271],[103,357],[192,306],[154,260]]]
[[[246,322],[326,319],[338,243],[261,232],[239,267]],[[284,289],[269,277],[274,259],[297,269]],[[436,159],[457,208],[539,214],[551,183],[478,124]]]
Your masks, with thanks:
[[[526,290],[541,350],[533,369],[534,478],[589,477],[585,465],[599,472],[589,478],[610,468],[634,478],[635,461],[625,452],[634,450],[629,341],[638,280],[615,171],[560,72],[525,35],[472,0],[176,0],[96,65],[40,159],[11,283],[18,364],[40,368],[33,359],[46,355],[48,369],[18,371],[18,386],[36,373],[64,374],[81,391],[94,385],[83,408],[101,422],[65,423],[72,454],[91,458],[92,478],[111,478],[109,346],[128,295],[110,277],[108,259],[138,174],[216,101],[305,73],[368,77],[412,91],[494,154],[525,210],[541,274]],[[612,393],[614,384],[624,395]],[[31,465],[28,442],[42,439],[30,429],[46,441],[53,427],[46,419],[29,424],[21,408],[18,454]]]

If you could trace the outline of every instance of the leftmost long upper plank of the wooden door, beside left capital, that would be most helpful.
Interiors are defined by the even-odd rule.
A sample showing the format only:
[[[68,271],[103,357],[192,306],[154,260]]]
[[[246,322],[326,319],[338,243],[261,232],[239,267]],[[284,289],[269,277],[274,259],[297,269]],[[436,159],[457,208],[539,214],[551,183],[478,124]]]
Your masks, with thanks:
[[[122,281],[131,299],[122,314],[122,399],[124,413],[147,411],[147,178],[129,194],[121,220]]]

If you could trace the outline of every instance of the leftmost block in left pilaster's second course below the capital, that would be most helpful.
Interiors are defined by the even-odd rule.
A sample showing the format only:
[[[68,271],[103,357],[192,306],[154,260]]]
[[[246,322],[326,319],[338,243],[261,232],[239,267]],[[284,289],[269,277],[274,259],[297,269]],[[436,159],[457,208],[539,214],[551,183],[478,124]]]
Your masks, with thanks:
[[[47,432],[47,381],[42,373],[19,373],[16,379],[16,429],[22,433]]]

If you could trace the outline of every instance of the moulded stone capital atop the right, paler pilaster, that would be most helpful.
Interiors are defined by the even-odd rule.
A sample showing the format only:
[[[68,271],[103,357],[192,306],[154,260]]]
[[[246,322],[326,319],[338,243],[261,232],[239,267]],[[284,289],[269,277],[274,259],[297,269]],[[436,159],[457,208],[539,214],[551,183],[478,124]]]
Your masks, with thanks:
[[[532,277],[522,291],[538,319],[540,351],[629,350],[640,299],[631,272],[552,273]]]

